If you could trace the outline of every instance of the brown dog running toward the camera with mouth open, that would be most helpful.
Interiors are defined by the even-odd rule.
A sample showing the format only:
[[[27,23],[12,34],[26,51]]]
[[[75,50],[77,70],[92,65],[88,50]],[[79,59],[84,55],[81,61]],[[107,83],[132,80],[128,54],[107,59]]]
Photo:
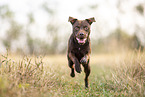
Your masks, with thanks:
[[[73,26],[73,33],[70,36],[68,42],[68,64],[71,68],[71,77],[75,77],[75,72],[81,73],[81,66],[84,67],[85,76],[85,87],[88,87],[88,76],[90,75],[90,25],[95,22],[94,18],[85,20],[78,20],[73,17],[69,17],[69,22]]]

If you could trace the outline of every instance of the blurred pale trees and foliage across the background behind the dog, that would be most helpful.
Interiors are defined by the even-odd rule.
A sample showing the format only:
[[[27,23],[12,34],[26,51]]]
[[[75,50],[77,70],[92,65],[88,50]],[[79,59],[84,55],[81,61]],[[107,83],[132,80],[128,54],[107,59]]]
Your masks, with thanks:
[[[119,13],[124,14],[121,10],[122,1],[118,0],[117,10]],[[98,4],[92,4],[89,6],[80,6],[79,12],[84,14],[85,9],[91,10],[93,13],[97,12]],[[41,9],[46,12],[49,16],[49,21],[45,27],[45,38],[34,37],[32,34],[32,27],[37,25],[35,20],[35,14],[29,12],[27,14],[28,23],[21,24],[15,19],[15,12],[13,12],[9,5],[0,5],[0,22],[1,29],[6,26],[4,37],[0,37],[1,47],[8,49],[13,53],[20,54],[64,54],[67,51],[67,41],[70,36],[71,29],[66,26],[67,21],[64,23],[58,23],[56,18],[57,11],[53,9],[53,6],[49,6],[49,3],[43,3]],[[138,16],[145,17],[144,4],[138,4],[134,6],[134,11],[138,13]],[[95,16],[96,21],[98,20],[97,14]],[[92,41],[92,51],[93,53],[108,53],[116,52],[122,50],[143,50],[145,46],[145,28],[141,28],[138,25],[135,26],[136,31],[134,34],[130,35],[128,32],[124,31],[120,26],[120,20],[117,18],[117,28],[110,31],[110,34],[102,37],[100,34],[96,36],[91,36]],[[145,21],[142,20],[142,21]],[[98,22],[98,21],[97,21]],[[6,25],[2,25],[5,23]],[[100,27],[100,25],[104,25]],[[71,26],[71,25],[69,25]],[[63,30],[62,30],[63,28]],[[100,22],[94,26],[92,33],[100,32],[105,29],[105,24]],[[37,31],[37,27],[35,27]],[[0,30],[2,33],[3,30]],[[36,34],[36,33],[35,33]]]

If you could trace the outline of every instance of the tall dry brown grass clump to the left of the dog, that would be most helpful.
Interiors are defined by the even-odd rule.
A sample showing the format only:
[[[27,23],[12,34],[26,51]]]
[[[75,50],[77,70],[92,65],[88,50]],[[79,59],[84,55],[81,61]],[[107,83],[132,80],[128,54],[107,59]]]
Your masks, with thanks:
[[[51,90],[58,87],[59,80],[54,70],[44,64],[41,57],[24,57],[14,61],[8,55],[2,55],[0,68],[2,97],[40,97],[48,91],[49,95],[54,95],[54,91]]]

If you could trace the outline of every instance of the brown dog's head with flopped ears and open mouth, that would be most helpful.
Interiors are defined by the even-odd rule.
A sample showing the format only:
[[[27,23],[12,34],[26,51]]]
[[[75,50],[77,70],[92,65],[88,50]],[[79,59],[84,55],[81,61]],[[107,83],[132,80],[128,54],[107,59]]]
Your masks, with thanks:
[[[90,26],[93,22],[95,22],[94,17],[85,20],[78,20],[76,18],[69,17],[69,22],[71,22],[73,26],[73,36],[75,40],[80,45],[84,45],[90,35]]]

